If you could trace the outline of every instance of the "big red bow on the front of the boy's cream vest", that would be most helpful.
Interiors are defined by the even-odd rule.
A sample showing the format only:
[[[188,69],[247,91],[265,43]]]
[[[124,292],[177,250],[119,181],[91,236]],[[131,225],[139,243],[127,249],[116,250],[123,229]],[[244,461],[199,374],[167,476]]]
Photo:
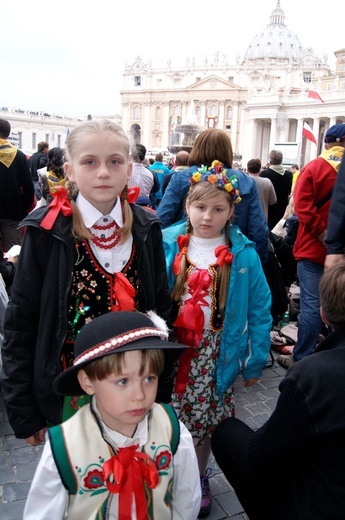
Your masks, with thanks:
[[[143,452],[136,451],[138,446],[119,448],[114,457],[103,464],[103,476],[110,493],[119,493],[119,520],[131,520],[132,499],[134,494],[136,517],[147,520],[146,484],[154,489],[158,484],[158,471]]]

